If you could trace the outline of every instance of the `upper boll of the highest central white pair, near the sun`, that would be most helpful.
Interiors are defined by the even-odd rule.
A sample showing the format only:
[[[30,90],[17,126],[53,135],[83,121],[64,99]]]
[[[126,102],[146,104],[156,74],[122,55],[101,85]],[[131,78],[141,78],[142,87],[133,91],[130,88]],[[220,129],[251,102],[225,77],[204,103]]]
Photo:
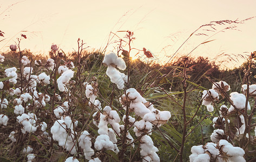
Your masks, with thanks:
[[[118,57],[114,52],[110,52],[105,55],[102,63],[106,64],[107,66],[114,64],[120,70],[126,69],[126,63],[124,62],[124,60],[121,57]]]

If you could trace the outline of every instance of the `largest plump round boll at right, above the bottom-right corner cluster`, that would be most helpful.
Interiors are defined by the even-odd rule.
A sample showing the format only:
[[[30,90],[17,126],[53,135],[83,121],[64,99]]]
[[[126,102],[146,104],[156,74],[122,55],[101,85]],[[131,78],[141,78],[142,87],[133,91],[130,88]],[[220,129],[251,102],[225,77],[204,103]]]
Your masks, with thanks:
[[[237,109],[242,110],[245,109],[245,102],[246,102],[246,97],[242,93],[238,92],[232,92],[230,93],[230,99],[233,101],[233,104]],[[247,110],[251,110],[250,103],[248,102],[247,105]]]

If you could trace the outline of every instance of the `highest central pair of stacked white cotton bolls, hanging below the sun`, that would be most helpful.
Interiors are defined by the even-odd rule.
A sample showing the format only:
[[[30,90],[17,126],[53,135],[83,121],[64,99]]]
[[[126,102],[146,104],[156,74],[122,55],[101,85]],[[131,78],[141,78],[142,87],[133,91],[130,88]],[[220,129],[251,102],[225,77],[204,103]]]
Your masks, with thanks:
[[[128,76],[121,73],[116,68],[120,70],[126,69],[126,63],[121,57],[118,57],[114,52],[110,52],[104,56],[104,65],[108,66],[106,74],[110,78],[112,83],[117,85],[118,89],[124,88],[124,82],[128,82]]]

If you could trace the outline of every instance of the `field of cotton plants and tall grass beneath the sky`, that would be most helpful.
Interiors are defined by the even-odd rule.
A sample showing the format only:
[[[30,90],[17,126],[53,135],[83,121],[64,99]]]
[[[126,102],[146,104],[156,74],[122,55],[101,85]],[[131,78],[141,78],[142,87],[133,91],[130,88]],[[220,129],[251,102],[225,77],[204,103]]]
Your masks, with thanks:
[[[239,22],[191,36],[224,23]],[[38,56],[25,38],[0,57],[0,161],[256,160],[256,52],[221,70],[188,55],[134,60],[132,50],[153,56],[132,48],[131,31],[116,53],[88,52],[78,39],[73,53],[53,44]]]

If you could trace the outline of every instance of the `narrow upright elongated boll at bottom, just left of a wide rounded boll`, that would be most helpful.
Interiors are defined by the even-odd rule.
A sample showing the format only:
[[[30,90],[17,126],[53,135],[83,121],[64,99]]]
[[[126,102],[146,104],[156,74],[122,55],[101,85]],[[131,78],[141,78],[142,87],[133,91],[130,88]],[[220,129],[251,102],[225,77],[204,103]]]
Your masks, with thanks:
[[[78,139],[78,144],[81,149],[83,149],[84,157],[87,160],[90,160],[91,156],[94,155],[94,150],[91,149],[91,138],[89,135],[90,134],[87,131],[83,131]]]

